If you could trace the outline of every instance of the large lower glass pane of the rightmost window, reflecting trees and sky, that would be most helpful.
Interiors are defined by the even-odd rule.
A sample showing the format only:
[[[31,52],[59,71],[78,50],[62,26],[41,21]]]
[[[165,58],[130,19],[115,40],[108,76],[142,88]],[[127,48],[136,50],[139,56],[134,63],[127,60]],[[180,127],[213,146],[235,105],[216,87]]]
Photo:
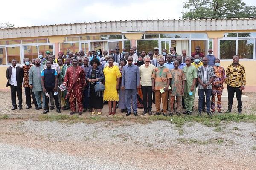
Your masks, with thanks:
[[[238,40],[239,58],[253,58],[254,39]]]

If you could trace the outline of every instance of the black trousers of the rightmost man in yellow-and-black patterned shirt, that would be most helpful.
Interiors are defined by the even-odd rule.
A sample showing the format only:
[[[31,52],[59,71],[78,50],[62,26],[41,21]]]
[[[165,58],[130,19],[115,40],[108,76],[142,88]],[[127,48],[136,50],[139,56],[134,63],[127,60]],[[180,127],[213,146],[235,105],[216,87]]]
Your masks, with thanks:
[[[242,111],[242,92],[239,88],[240,86],[230,87],[229,85],[227,85],[228,110],[230,110],[230,112],[232,110],[235,92],[236,92],[236,99],[237,99],[237,111],[238,112]]]

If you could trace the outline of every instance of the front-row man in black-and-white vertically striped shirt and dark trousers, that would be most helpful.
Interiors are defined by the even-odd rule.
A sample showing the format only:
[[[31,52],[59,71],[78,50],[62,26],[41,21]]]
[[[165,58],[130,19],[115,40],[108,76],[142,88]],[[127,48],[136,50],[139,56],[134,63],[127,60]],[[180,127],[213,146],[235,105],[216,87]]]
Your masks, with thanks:
[[[208,58],[204,57],[202,59],[203,66],[198,67],[198,115],[202,114],[202,107],[204,101],[204,93],[206,98],[206,112],[208,115],[212,115],[210,112],[211,107],[211,93],[212,93],[212,81],[215,77],[214,69],[212,66],[208,65]]]

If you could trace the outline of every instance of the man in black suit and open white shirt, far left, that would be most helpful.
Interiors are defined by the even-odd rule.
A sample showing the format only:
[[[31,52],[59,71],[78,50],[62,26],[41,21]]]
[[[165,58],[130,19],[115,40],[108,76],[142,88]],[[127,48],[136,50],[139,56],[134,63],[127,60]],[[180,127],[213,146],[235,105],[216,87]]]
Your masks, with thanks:
[[[22,92],[21,86],[23,81],[23,69],[16,65],[17,61],[12,60],[12,66],[6,70],[7,84],[6,87],[11,86],[12,110],[17,109],[16,93],[19,99],[19,109],[22,109]]]

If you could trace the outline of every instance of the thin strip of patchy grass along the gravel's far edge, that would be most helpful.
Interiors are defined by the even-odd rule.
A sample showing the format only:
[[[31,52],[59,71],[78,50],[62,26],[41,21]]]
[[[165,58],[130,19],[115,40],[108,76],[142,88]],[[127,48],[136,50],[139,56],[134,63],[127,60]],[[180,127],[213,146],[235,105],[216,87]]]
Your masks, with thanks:
[[[0,119],[7,119],[7,115],[3,115],[0,117]],[[175,124],[175,127],[181,128],[185,123],[189,123],[189,126],[191,122],[198,122],[201,124],[204,124],[207,127],[217,127],[220,126],[221,122],[256,122],[256,115],[245,115],[245,114],[220,114],[220,115],[214,115],[212,117],[209,117],[208,115],[203,116],[163,116],[163,115],[157,115],[157,116],[148,116],[148,117],[137,117],[137,118],[129,118],[124,116],[90,116],[90,117],[79,117],[77,115],[40,115],[38,117],[38,121],[60,121],[63,123],[71,122],[71,123],[77,123],[77,122],[84,122],[87,124],[91,123],[97,123],[102,121],[131,121],[135,123],[140,124],[148,124],[151,121],[169,121],[172,124]]]

